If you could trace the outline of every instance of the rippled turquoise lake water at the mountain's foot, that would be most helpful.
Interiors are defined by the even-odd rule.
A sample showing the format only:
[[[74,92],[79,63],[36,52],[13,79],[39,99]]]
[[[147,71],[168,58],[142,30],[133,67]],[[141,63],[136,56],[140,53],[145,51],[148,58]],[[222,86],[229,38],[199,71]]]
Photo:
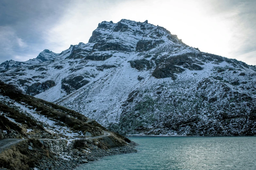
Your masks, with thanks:
[[[255,170],[256,137],[129,137],[137,153],[113,155],[77,170]]]

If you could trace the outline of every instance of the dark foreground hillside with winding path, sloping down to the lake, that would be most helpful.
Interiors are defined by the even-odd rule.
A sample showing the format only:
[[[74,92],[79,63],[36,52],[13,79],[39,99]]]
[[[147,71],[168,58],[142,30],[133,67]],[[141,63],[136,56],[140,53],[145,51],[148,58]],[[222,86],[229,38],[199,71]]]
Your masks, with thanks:
[[[102,156],[136,152],[134,146],[95,120],[0,81],[0,168],[73,169]]]

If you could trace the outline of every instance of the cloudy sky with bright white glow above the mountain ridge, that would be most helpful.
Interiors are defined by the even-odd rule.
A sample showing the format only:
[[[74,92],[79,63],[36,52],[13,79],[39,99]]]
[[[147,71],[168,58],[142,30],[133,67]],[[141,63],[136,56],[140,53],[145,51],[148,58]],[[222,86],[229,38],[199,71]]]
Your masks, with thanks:
[[[87,43],[102,21],[145,21],[203,52],[256,65],[256,0],[1,0],[0,63]]]

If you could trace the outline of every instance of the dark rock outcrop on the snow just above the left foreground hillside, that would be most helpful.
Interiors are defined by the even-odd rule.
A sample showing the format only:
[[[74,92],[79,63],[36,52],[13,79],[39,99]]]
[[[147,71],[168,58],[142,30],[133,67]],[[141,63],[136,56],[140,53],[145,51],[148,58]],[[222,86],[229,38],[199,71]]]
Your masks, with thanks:
[[[43,83],[37,82],[27,87],[26,94],[34,96],[50,89],[53,86],[55,86],[55,82],[53,80],[47,80]]]

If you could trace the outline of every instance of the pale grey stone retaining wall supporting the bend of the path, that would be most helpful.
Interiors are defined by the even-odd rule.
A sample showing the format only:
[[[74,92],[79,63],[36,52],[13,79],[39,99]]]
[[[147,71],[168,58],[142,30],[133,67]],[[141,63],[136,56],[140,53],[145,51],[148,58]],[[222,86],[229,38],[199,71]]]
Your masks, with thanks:
[[[59,140],[47,140],[41,139],[40,142],[44,145],[45,148],[49,149],[49,151],[61,154],[62,152],[67,151],[67,140],[59,139]]]

